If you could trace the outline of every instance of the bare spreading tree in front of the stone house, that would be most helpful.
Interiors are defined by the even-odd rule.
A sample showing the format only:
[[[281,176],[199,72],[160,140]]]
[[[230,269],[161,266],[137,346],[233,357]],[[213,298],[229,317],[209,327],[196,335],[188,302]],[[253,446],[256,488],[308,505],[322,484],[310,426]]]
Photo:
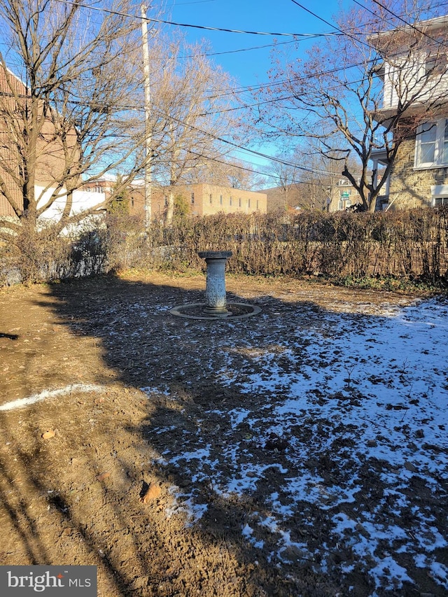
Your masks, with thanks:
[[[402,142],[440,108],[440,93],[434,92],[447,73],[446,40],[431,40],[418,26],[431,15],[430,3],[419,9],[405,1],[381,4],[339,13],[335,36],[314,46],[304,62],[276,52],[272,76],[283,83],[265,90],[270,101],[260,102],[257,114],[269,124],[271,138],[273,132],[307,137],[318,141],[322,155],[337,155],[340,174],[370,211]],[[422,53],[433,59],[429,68],[421,69]],[[391,111],[383,109],[384,83],[397,100]],[[423,101],[424,113],[415,111]],[[386,167],[372,171],[372,155],[380,150]]]

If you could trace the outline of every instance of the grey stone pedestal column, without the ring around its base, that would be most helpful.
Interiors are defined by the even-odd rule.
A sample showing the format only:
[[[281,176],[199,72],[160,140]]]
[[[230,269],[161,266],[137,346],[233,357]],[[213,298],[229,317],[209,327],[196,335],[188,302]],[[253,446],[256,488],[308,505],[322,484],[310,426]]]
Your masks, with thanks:
[[[200,251],[197,254],[207,263],[204,313],[227,317],[230,311],[225,297],[225,262],[232,257],[232,251]]]

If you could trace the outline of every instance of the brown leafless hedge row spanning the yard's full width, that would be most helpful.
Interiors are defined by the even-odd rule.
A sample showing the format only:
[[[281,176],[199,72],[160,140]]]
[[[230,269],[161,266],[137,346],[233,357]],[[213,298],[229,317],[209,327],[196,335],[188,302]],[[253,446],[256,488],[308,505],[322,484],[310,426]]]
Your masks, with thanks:
[[[198,251],[232,251],[229,272],[448,279],[448,209],[381,213],[218,214],[144,231],[130,216],[107,216],[76,239],[24,234],[4,247],[3,281],[52,279],[130,267],[204,269]]]

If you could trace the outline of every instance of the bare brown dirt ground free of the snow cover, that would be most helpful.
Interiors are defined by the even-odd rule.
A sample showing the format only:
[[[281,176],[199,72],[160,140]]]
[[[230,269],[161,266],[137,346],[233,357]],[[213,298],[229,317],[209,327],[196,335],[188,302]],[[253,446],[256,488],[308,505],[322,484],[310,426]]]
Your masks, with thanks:
[[[269,316],[283,318],[287,334],[297,309],[306,322],[337,305],[365,312],[414,297],[228,276],[229,296],[260,305],[267,318],[229,325],[168,314],[168,307],[203,300],[204,285],[204,276],[127,274],[1,291],[0,405],[36,401],[0,412],[0,564],[94,564],[102,597],[372,594],[356,570],[342,580],[339,564],[348,554],[335,555],[323,574],[305,559],[279,565],[269,549],[241,534],[251,512],[262,509],[263,494],[276,486],[275,469],[267,469],[251,496],[224,499],[190,469],[161,468],[160,460],[199,425],[218,454],[225,430],[204,412],[231,411],[243,402],[257,408],[257,396],[242,396],[211,377],[220,359],[216,337],[245,346],[253,334],[269,335]],[[238,433],[241,442],[251,437],[244,427]],[[253,444],[258,461],[269,463],[284,449],[276,439],[271,447]],[[195,524],[173,514],[173,486],[194,486],[197,503],[207,502]],[[414,492],[430,500],[425,487]],[[437,507],[435,516],[446,519],[443,505]],[[325,521],[313,516],[306,532],[318,545]],[[301,528],[297,514],[297,534]],[[425,577],[418,590],[377,594],[445,593]]]

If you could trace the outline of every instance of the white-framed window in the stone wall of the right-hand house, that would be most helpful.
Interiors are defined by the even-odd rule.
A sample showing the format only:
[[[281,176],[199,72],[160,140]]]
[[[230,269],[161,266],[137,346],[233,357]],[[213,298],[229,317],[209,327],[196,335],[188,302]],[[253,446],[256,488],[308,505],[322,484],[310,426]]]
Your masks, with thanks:
[[[426,122],[417,129],[415,167],[448,165],[448,118]]]

